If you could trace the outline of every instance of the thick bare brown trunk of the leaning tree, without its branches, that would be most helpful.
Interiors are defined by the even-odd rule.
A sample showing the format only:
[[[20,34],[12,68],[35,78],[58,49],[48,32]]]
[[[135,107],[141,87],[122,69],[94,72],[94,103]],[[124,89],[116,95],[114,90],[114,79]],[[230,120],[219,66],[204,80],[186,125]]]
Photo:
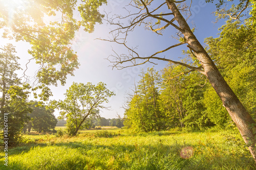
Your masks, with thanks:
[[[220,71],[190,30],[175,3],[172,0],[166,0],[166,2],[170,10],[174,13],[180,29],[182,29],[182,34],[187,40],[188,47],[195,52],[197,59],[201,62],[205,71],[204,75],[220,96],[223,106],[227,109],[233,122],[237,125],[245,143],[249,145],[248,148],[253,159],[256,160],[255,135],[253,134],[253,129],[255,128],[254,120],[221,76]]]

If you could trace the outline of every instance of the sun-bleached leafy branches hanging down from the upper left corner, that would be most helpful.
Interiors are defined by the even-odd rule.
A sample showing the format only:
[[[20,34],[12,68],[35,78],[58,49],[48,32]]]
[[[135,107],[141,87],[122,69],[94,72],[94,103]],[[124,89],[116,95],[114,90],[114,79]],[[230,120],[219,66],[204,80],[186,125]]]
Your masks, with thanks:
[[[37,86],[41,89],[40,100],[47,101],[52,95],[49,85],[66,83],[68,75],[78,68],[79,63],[71,44],[75,32],[80,28],[89,33],[94,31],[96,23],[102,23],[98,7],[106,0],[80,1],[10,1],[0,0],[0,29],[3,37],[30,43],[28,53],[40,65],[36,74]],[[74,12],[80,13],[81,20],[75,19]],[[56,19],[57,18],[60,19]],[[28,63],[29,63],[28,62]],[[27,65],[26,65],[27,67]],[[27,70],[27,69],[26,69]],[[24,71],[24,78],[30,77]]]

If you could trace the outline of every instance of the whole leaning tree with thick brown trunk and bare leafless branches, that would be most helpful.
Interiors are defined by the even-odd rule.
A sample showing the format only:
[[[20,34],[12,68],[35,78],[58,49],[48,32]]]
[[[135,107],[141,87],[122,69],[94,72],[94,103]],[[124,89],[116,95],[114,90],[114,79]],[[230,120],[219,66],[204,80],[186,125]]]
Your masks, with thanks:
[[[193,30],[191,30],[190,27],[188,26],[186,19],[181,14],[180,11],[184,11],[186,7],[189,9],[189,6],[181,6],[180,3],[184,1],[166,0],[162,4],[159,4],[159,2],[157,1],[157,7],[154,9],[150,9],[150,7],[154,7],[153,3],[155,2],[156,1],[142,0],[131,2],[131,6],[136,7],[138,12],[130,12],[129,15],[125,17],[116,17],[116,19],[128,18],[130,20],[129,25],[123,25],[120,21],[114,22],[115,18],[109,19],[109,22],[112,25],[116,25],[118,28],[112,31],[114,38],[112,40],[107,41],[117,42],[118,44],[124,45],[129,51],[129,55],[111,55],[110,57],[114,58],[109,58],[109,60],[113,62],[113,66],[117,68],[139,65],[146,62],[152,62],[152,60],[157,59],[187,67],[189,68],[189,71],[187,72],[199,71],[201,74],[206,76],[206,78],[209,80],[209,83],[220,97],[223,106],[226,108],[233,122],[238,127],[238,130],[240,131],[245,143],[248,144],[248,148],[252,157],[256,160],[255,134],[253,133],[254,129],[256,129],[255,122],[252,119],[249,112],[240,102],[237,95],[232,91],[230,86],[224,80],[220,71],[216,67],[214,61],[211,60],[210,56],[205,51],[204,47],[197,40],[196,36],[193,33]],[[219,2],[219,6],[221,6],[224,1]],[[238,10],[242,10],[240,10],[238,14],[238,11],[234,11],[234,14],[237,14],[237,17],[235,19],[238,19],[241,16],[240,13],[248,7],[248,3],[249,0],[240,0],[240,8],[238,8]],[[164,12],[164,10],[161,11],[161,9],[166,6],[170,10],[170,12],[168,13]],[[126,44],[126,39],[127,35],[129,35],[129,32],[133,31],[136,26],[140,26],[141,23],[144,23],[146,27],[148,27],[150,30],[154,31],[157,34],[162,34],[161,31],[166,30],[167,27],[169,26],[173,27],[178,31],[177,39],[179,40],[179,43],[170,45],[164,50],[158,51],[150,56],[140,56],[139,53],[136,52],[136,48],[129,47],[129,45]],[[122,35],[123,37],[121,37]],[[193,54],[193,56],[195,56],[197,62],[200,63],[198,67],[191,66],[189,64],[185,64],[182,62],[173,61],[166,57],[158,57],[159,54],[169,51],[170,49],[183,44],[187,44],[187,47],[190,50],[190,52]],[[138,60],[142,60],[142,62],[138,62]],[[125,63],[127,63],[128,65],[123,65]],[[130,63],[132,64],[130,65]]]

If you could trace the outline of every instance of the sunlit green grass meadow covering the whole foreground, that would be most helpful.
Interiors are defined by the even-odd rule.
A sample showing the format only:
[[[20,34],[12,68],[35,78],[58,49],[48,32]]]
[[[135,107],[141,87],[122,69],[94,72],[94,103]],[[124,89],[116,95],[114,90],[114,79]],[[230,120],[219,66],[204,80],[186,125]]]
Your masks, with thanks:
[[[4,152],[0,153],[0,169],[256,168],[241,136],[230,131],[132,133],[117,129],[76,137],[25,137],[34,141],[9,149],[8,168]],[[193,148],[188,159],[180,156],[185,147]]]

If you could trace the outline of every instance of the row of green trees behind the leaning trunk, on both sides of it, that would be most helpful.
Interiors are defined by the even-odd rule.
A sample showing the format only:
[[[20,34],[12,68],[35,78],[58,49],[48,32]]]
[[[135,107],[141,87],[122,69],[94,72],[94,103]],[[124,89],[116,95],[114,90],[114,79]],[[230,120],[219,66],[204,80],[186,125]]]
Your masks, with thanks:
[[[207,38],[207,52],[252,117],[256,116],[256,28],[230,22],[218,38]],[[196,66],[190,51],[181,62]],[[223,57],[225,56],[225,57]],[[193,64],[192,64],[193,63]],[[177,76],[178,75],[178,76]],[[139,131],[173,127],[233,127],[219,96],[200,72],[169,63],[163,70],[142,70],[126,103],[124,125]]]

